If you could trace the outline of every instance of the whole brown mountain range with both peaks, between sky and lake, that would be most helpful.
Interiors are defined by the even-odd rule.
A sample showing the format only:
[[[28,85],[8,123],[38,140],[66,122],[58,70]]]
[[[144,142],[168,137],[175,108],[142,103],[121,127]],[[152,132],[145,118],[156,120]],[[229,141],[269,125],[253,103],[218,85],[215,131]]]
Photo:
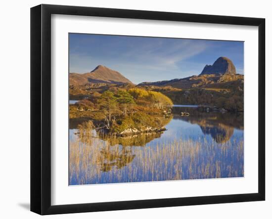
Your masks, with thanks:
[[[165,74],[168,74],[167,72]],[[171,77],[171,76],[170,76]],[[202,104],[228,111],[244,110],[244,76],[236,74],[235,66],[226,57],[218,58],[201,74],[182,79],[143,82],[134,85],[119,72],[98,65],[85,74],[69,74],[70,99],[97,99],[106,90],[140,88],[168,96],[174,104]],[[212,134],[213,130],[203,129]],[[230,132],[229,132],[230,133]]]

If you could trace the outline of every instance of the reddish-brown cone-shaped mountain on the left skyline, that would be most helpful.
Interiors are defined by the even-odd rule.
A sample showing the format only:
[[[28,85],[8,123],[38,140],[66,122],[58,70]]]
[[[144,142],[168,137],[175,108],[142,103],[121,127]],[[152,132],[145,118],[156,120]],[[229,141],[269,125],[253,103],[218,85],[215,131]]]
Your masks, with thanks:
[[[85,74],[70,73],[70,85],[78,86],[88,83],[105,83],[105,84],[133,84],[130,80],[125,78],[121,73],[107,68],[103,65],[98,65],[91,72]]]

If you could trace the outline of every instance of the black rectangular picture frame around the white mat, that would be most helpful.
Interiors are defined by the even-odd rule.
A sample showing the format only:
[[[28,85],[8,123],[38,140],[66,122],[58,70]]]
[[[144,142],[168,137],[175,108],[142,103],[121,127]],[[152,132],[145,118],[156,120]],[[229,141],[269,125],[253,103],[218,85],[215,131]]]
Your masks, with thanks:
[[[258,193],[51,205],[51,15],[85,15],[257,26]],[[257,74],[257,73],[256,73]],[[41,4],[31,8],[31,211],[41,215],[265,200],[265,19]]]

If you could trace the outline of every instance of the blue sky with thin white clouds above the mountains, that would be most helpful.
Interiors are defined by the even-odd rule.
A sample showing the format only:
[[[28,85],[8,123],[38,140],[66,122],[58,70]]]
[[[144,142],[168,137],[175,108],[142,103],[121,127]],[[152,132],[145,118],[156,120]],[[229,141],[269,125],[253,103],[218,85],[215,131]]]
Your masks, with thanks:
[[[244,73],[243,42],[69,34],[70,73],[104,65],[135,84],[198,75],[220,56]]]

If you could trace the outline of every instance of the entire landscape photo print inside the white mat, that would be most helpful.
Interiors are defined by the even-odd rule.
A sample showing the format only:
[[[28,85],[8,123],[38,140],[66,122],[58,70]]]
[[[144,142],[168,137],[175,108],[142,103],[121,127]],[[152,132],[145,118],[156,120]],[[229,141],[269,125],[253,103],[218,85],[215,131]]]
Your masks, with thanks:
[[[244,42],[69,33],[69,185],[244,176]]]

